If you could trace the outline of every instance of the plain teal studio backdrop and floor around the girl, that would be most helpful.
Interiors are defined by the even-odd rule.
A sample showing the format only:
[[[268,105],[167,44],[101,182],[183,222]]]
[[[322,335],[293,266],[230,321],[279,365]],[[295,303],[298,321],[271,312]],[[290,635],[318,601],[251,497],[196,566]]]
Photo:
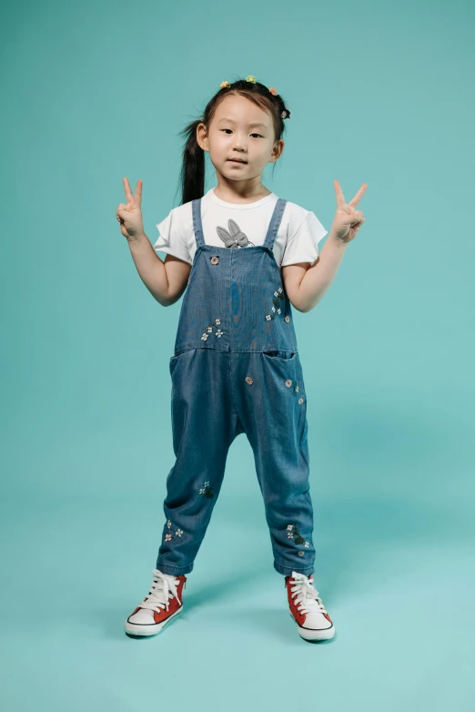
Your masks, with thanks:
[[[474,708],[474,20],[427,0],[4,10],[6,712]],[[369,184],[336,280],[296,312],[337,635],[298,637],[242,435],[183,614],[137,641],[123,623],[164,523],[181,300],[152,298],[115,212],[142,178],[155,242],[178,131],[248,74],[291,111],[269,189],[329,230],[333,179],[348,200]]]

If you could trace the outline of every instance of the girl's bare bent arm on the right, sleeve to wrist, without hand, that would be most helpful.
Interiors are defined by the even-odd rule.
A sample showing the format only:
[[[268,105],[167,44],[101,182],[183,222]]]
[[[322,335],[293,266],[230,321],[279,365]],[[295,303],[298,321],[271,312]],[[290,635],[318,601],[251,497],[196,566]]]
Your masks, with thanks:
[[[298,311],[310,311],[318,304],[335,279],[348,245],[331,229],[313,265],[299,262],[282,268],[282,279],[292,306]]]

